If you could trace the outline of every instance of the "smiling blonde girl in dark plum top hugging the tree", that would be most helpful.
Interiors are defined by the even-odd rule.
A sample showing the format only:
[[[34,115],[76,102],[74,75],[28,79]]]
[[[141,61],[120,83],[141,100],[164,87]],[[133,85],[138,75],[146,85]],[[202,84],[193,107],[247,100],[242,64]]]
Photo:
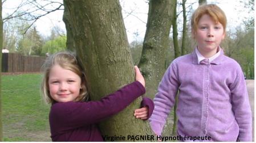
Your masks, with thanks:
[[[97,123],[120,112],[145,93],[145,81],[137,66],[135,82],[99,101],[89,100],[86,75],[74,53],[55,53],[47,58],[42,68],[42,94],[51,104],[52,141],[103,141]],[[153,102],[143,98],[141,105],[143,108],[139,111],[149,113],[139,118],[148,119],[154,108]]]

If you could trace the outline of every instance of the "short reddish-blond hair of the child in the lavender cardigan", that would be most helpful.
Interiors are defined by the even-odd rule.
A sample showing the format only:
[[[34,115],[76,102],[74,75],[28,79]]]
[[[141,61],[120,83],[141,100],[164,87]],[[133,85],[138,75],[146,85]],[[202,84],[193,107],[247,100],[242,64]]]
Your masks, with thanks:
[[[226,19],[226,15],[224,13],[224,11],[222,11],[220,9],[220,7],[218,7],[217,5],[214,4],[209,4],[209,5],[201,5],[198,6],[198,8],[196,9],[196,11],[194,11],[192,18],[191,18],[191,28],[192,31],[196,31],[197,30],[197,24],[200,20],[200,18],[202,17],[202,15],[204,14],[208,14],[215,23],[220,22],[224,28],[224,33],[226,32],[226,24],[227,24],[227,19]]]

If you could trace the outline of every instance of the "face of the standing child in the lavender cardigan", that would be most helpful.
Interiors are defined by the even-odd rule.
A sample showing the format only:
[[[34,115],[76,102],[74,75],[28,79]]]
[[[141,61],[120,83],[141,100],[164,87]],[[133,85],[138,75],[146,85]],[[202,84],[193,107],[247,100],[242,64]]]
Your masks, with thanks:
[[[222,24],[215,23],[208,14],[202,15],[198,21],[198,28],[193,33],[197,41],[198,51],[202,56],[213,56],[225,37]]]

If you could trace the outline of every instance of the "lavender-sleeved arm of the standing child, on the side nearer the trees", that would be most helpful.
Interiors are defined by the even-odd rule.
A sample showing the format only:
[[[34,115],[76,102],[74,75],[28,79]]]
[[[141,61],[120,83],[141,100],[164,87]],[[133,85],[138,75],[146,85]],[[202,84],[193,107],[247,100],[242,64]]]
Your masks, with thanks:
[[[178,70],[173,61],[159,84],[157,94],[154,98],[155,109],[149,118],[151,129],[157,135],[160,135],[162,132],[166,118],[174,105],[179,86]]]

